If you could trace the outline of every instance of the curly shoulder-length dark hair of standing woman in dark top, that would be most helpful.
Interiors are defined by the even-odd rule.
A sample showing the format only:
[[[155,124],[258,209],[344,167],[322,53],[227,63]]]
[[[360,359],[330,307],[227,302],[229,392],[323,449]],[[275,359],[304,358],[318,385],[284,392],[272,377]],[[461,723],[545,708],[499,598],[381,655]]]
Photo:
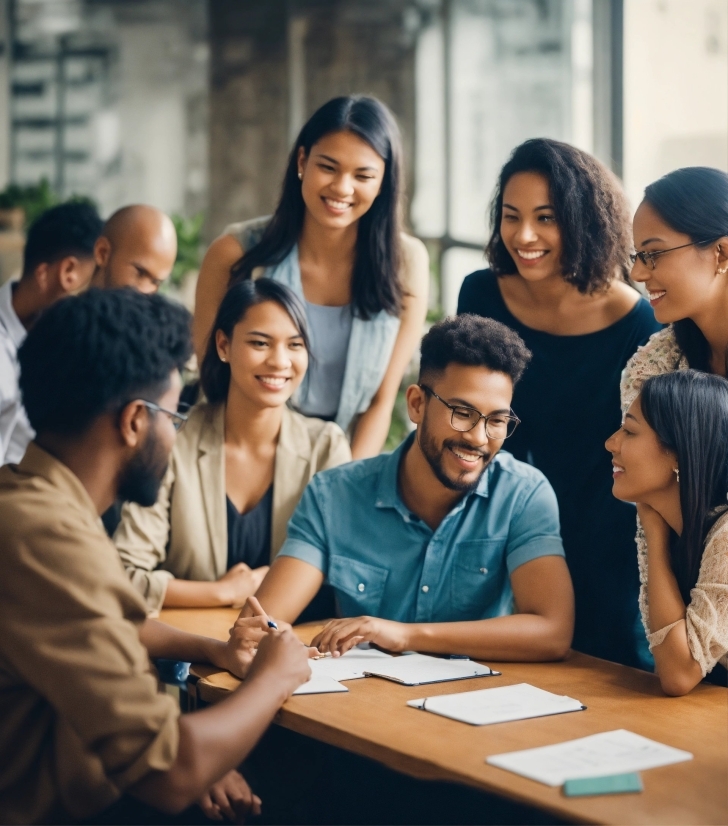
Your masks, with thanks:
[[[517,146],[501,169],[490,207],[491,236],[485,253],[496,275],[518,272],[500,235],[503,193],[519,172],[536,172],[549,184],[561,232],[561,271],[579,292],[603,290],[619,271],[629,277],[632,248],[627,199],[617,178],[596,158],[550,138]]]

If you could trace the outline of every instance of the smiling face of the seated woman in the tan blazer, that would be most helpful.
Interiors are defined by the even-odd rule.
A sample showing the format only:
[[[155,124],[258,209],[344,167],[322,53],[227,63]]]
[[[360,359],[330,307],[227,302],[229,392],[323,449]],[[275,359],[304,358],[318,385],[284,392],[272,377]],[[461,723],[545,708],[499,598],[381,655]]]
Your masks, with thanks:
[[[228,338],[215,333],[218,356],[230,364],[230,390],[259,407],[280,407],[308,367],[303,337],[275,301],[251,307]]]

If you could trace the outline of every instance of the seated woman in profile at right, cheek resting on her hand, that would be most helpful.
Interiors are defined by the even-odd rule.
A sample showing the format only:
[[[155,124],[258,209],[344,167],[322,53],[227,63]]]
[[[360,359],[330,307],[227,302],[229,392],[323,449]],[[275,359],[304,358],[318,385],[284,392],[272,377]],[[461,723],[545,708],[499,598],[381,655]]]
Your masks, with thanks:
[[[636,502],[640,609],[667,694],[728,666],[728,381],[653,376],[606,443],[614,495]]]

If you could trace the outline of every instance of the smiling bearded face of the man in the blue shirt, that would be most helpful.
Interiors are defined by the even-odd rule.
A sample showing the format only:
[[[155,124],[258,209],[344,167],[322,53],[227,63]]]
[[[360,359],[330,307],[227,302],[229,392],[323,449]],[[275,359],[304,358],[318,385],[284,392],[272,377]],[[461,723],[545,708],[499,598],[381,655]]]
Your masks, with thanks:
[[[440,374],[423,377],[422,384],[453,406],[485,415],[510,413],[511,377],[487,367],[452,363]],[[473,430],[455,430],[450,409],[418,386],[409,388],[407,402],[410,418],[418,426],[417,443],[435,477],[448,490],[472,490],[503,440],[488,438],[482,419]]]

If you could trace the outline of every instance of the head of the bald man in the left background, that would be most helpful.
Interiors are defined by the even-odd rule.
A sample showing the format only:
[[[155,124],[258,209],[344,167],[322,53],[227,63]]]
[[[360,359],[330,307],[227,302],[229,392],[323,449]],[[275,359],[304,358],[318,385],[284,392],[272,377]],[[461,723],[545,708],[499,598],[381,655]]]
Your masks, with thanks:
[[[94,247],[93,287],[156,293],[177,258],[177,233],[167,215],[134,204],[117,210]]]

